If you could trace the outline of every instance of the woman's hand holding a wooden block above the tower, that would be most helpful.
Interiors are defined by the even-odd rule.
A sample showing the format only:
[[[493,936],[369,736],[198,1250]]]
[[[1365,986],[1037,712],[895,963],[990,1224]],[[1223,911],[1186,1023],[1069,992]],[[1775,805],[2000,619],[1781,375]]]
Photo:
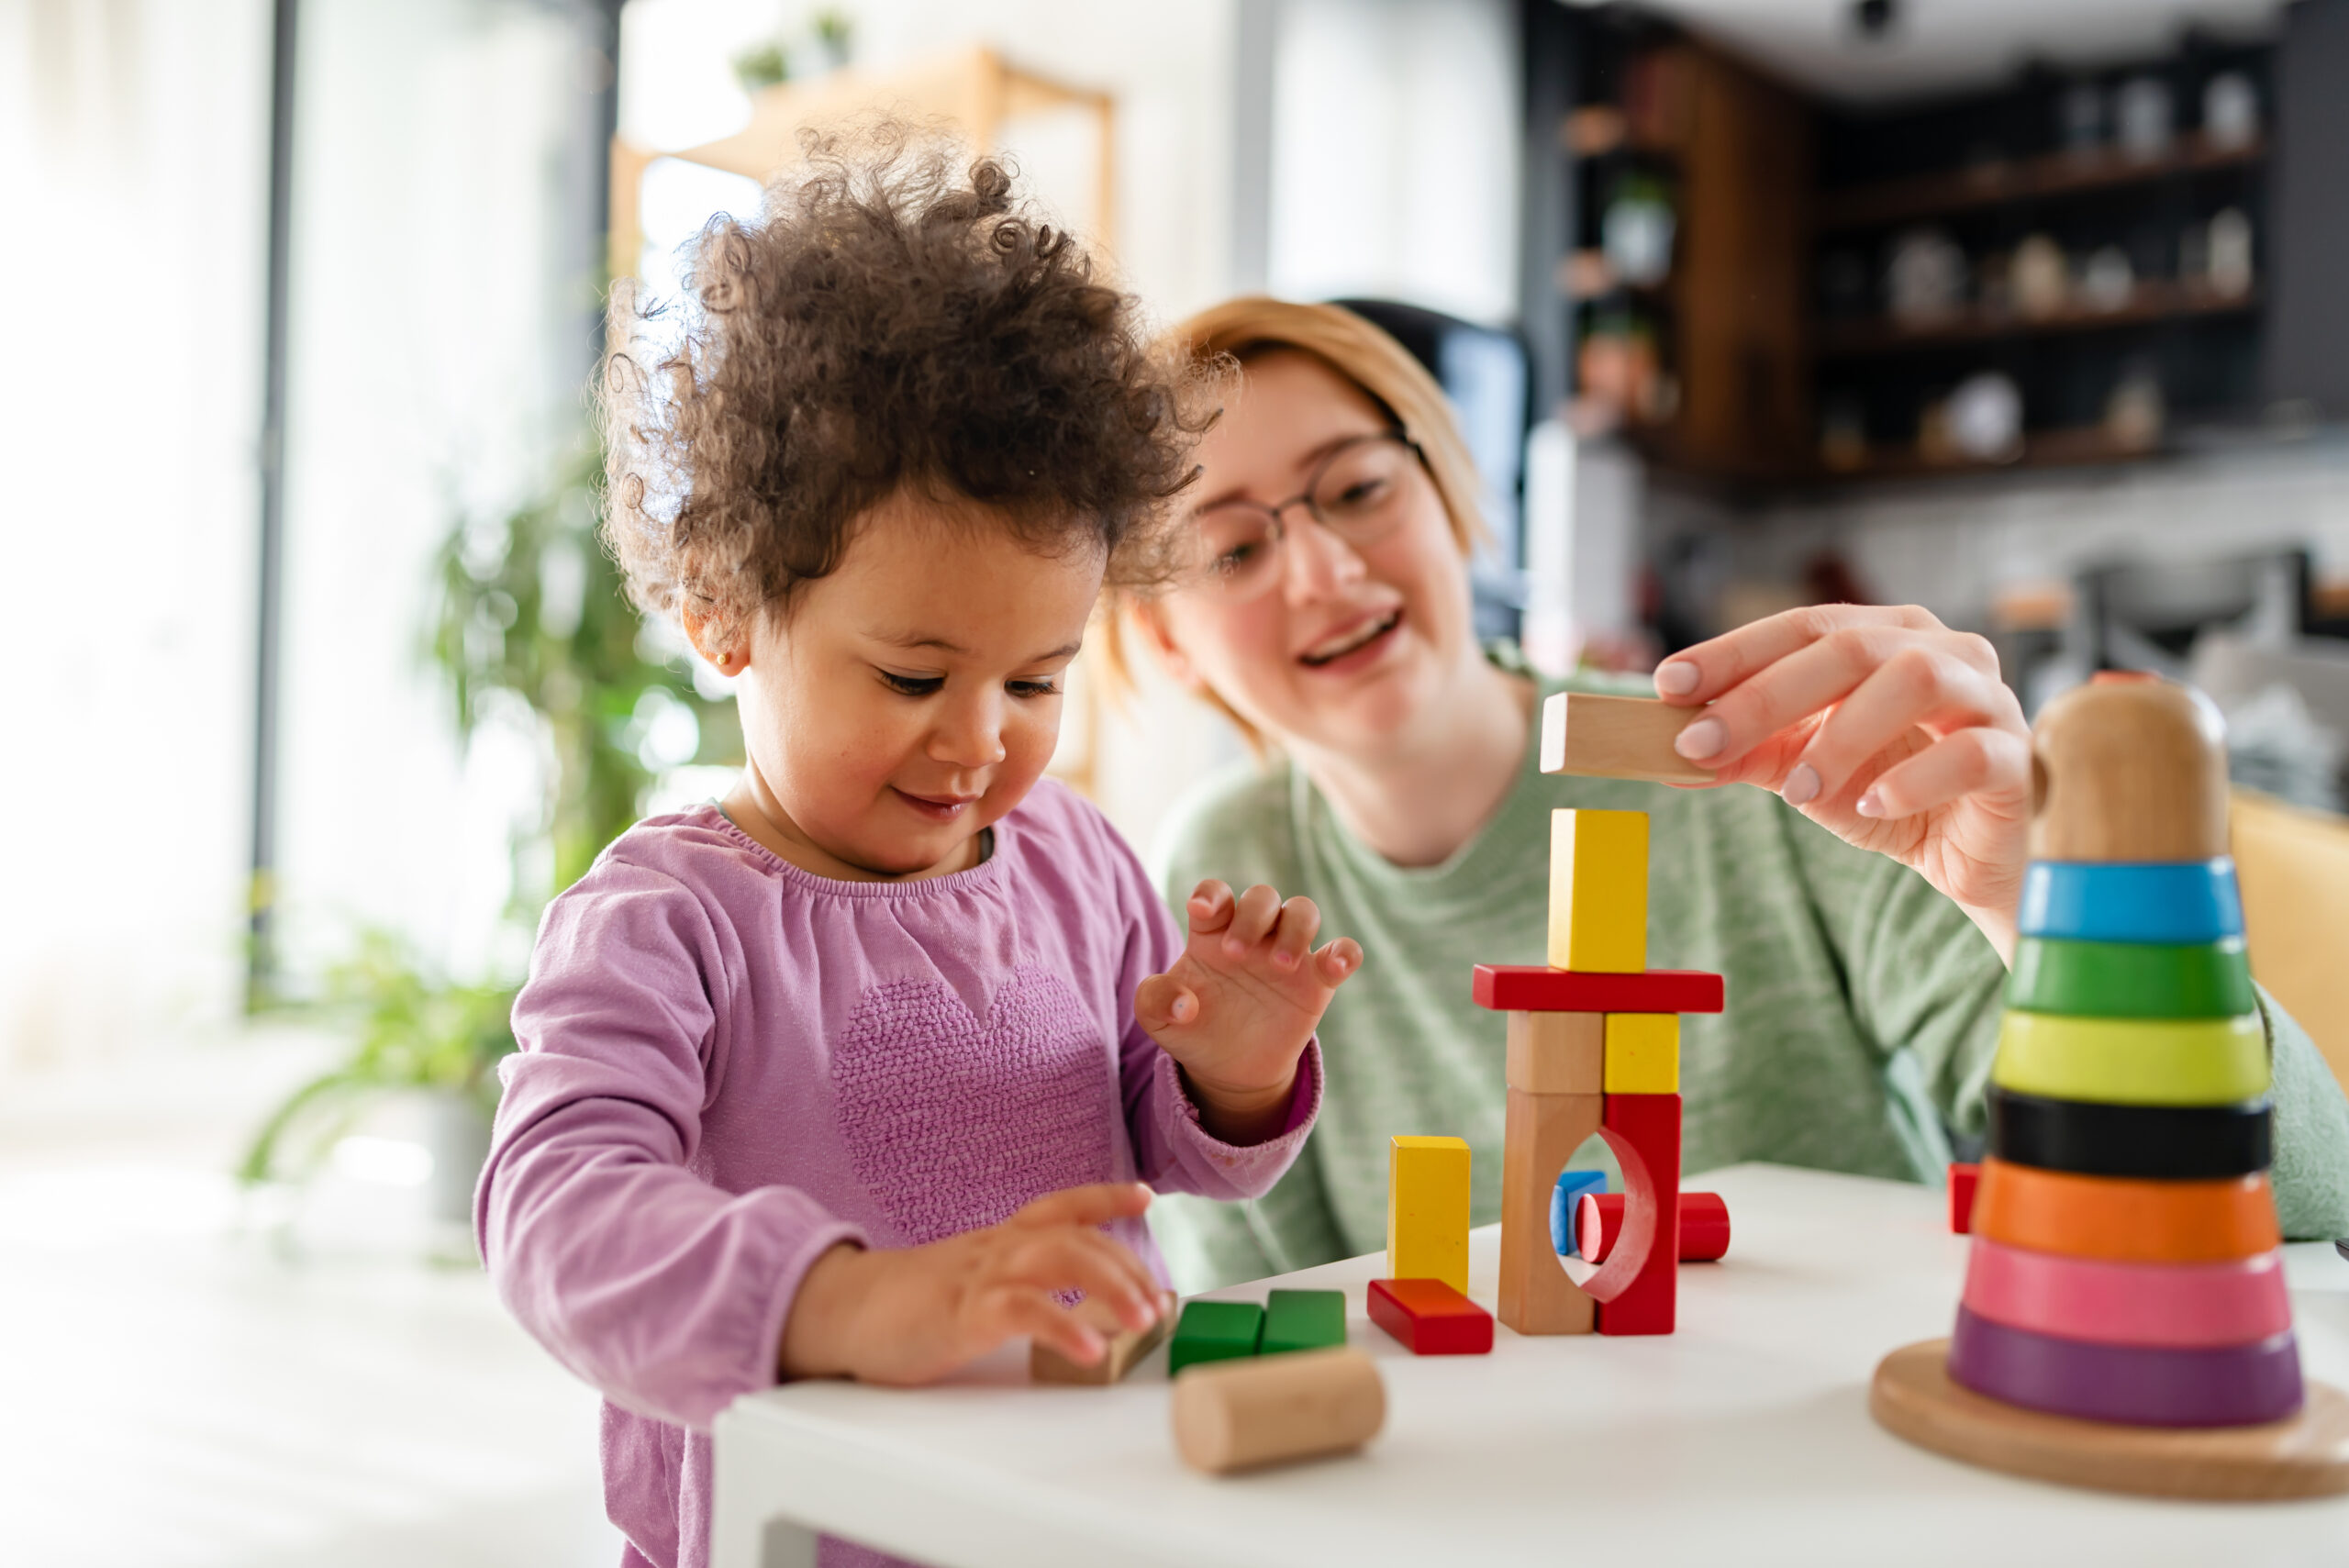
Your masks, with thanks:
[[[2013,960],[2032,735],[1985,638],[1914,606],[1811,606],[1675,653],[1656,695],[1710,704],[1675,742],[1691,763],[1912,866]]]

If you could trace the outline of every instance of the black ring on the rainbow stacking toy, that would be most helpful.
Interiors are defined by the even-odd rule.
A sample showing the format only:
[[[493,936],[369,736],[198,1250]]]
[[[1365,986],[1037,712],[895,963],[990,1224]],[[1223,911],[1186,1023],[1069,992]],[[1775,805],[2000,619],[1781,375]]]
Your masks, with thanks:
[[[1990,1153],[2074,1176],[2210,1181],[2274,1162],[2262,1094],[2236,1106],[2100,1106],[1990,1087]]]

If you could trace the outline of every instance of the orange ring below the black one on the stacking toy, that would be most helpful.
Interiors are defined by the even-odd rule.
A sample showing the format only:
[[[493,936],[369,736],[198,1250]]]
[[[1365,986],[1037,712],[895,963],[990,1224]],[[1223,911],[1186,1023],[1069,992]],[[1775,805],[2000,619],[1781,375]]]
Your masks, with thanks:
[[[2267,1176],[2142,1181],[1985,1160],[1973,1235],[2107,1263],[2229,1263],[2279,1246]]]

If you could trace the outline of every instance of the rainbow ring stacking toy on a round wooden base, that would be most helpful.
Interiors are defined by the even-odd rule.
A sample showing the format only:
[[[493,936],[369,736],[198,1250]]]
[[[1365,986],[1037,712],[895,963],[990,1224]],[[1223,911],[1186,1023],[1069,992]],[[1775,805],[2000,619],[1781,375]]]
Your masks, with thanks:
[[[2041,714],[2032,786],[1957,1331],[1889,1357],[1870,1408],[2055,1481],[2349,1488],[2349,1406],[2302,1390],[2283,1289],[2217,711],[2098,676]]]

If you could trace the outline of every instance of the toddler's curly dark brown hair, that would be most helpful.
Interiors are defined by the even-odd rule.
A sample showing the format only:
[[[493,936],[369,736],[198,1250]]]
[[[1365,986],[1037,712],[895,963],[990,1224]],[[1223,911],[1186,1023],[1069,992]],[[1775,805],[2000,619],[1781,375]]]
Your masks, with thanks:
[[[1111,584],[1163,575],[1214,366],[1153,347],[1003,160],[895,120],[801,153],[756,223],[702,230],[681,333],[613,291],[604,538],[637,603],[731,641],[909,486],[1097,547]]]

